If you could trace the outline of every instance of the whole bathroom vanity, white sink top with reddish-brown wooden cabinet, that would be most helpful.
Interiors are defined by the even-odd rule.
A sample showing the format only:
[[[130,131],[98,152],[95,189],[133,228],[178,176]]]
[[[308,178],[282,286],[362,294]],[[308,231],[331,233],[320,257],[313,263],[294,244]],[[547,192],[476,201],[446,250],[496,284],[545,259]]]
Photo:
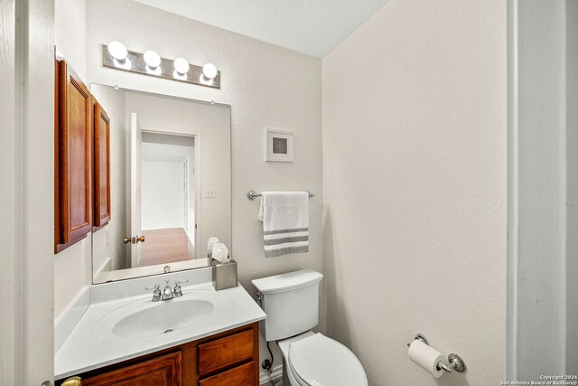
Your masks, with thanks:
[[[182,297],[153,302],[153,294],[144,293],[144,287],[165,280],[162,287],[172,286],[177,279],[192,283],[182,287]],[[71,376],[83,386],[259,383],[258,321],[266,315],[241,286],[215,291],[210,268],[86,292],[57,327],[68,328],[56,335],[57,385]]]

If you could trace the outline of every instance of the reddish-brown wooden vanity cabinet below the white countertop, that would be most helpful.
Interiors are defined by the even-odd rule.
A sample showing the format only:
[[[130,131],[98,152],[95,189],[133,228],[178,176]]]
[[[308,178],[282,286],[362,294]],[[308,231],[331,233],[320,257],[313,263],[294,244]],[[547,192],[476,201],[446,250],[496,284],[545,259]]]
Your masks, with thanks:
[[[82,386],[256,386],[258,323],[85,372],[79,377]]]

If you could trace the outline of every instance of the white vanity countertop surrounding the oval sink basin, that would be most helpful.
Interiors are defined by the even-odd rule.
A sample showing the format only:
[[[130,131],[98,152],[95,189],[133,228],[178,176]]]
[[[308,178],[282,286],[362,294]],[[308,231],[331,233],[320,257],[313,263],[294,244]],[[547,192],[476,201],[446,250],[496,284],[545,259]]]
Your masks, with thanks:
[[[263,310],[240,285],[215,291],[210,282],[205,282],[182,287],[182,294],[182,297],[155,304],[181,302],[200,296],[210,297],[215,305],[212,314],[194,325],[147,338],[119,338],[109,330],[107,332],[106,328],[102,328],[102,320],[107,320],[103,319],[104,316],[113,312],[122,314],[123,310],[119,308],[124,306],[127,306],[125,308],[127,310],[135,309],[137,303],[151,306],[152,293],[113,298],[91,304],[55,355],[55,379],[77,375],[108,364],[192,342],[205,336],[254,323],[266,317]]]

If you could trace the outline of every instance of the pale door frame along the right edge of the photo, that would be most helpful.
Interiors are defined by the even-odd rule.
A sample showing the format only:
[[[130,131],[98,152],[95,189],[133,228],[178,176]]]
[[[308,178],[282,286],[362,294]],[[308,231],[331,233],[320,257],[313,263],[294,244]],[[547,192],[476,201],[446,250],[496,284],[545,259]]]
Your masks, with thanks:
[[[574,373],[573,0],[508,0],[507,379]],[[573,7],[573,8],[570,8]],[[570,11],[570,12],[569,12]],[[568,43],[570,42],[570,43]],[[573,72],[572,72],[573,71]],[[573,286],[573,287],[571,287]],[[572,303],[574,302],[574,303]],[[544,358],[548,358],[547,361]]]

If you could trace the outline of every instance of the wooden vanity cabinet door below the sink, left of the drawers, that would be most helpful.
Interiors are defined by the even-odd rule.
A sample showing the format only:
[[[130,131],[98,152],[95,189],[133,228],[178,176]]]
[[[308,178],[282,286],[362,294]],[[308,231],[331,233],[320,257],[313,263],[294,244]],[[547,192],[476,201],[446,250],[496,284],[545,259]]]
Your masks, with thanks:
[[[82,386],[181,386],[181,352],[83,379]]]

